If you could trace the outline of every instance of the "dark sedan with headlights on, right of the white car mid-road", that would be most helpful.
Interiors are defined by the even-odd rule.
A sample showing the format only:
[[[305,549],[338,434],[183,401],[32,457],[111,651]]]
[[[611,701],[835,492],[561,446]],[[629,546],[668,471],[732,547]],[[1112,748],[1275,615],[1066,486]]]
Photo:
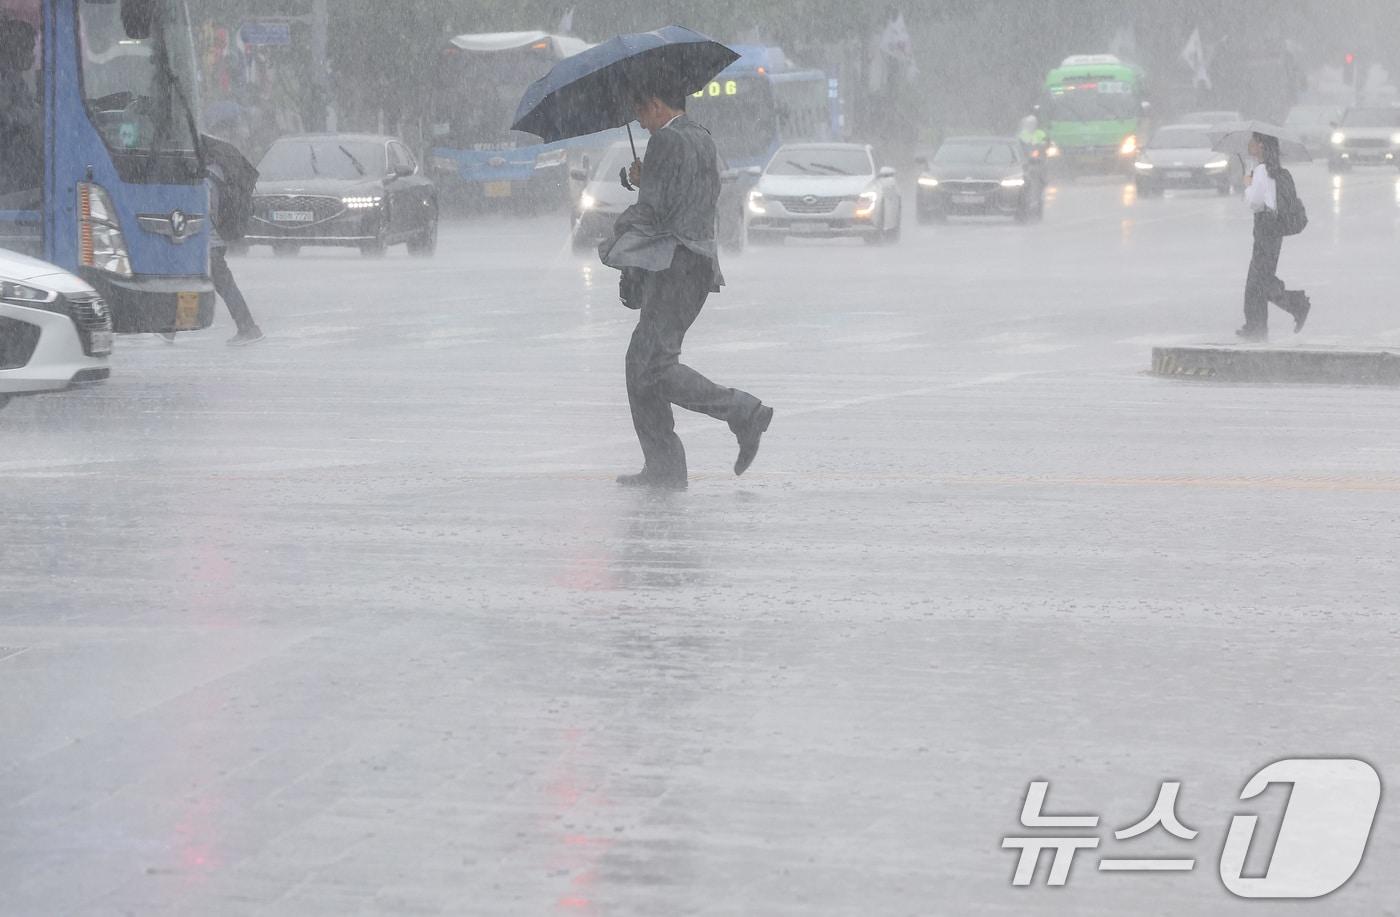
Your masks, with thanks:
[[[1044,169],[1011,137],[952,137],[932,160],[921,158],[916,211],[920,223],[951,216],[1044,216]]]

